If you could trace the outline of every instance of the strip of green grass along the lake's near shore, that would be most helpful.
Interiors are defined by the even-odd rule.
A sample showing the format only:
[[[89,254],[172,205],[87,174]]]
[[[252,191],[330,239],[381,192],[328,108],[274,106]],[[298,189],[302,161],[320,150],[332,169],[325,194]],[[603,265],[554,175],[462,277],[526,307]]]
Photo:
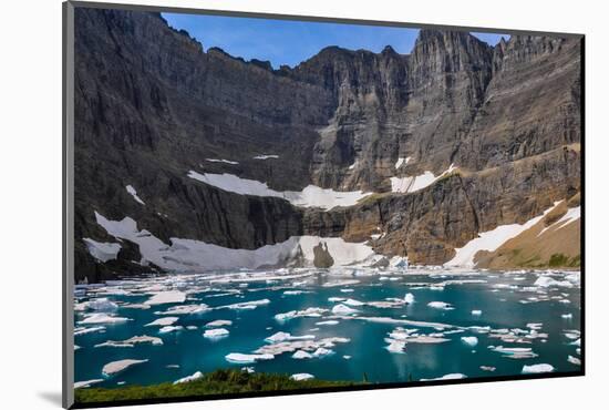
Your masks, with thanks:
[[[234,394],[256,391],[314,389],[323,387],[354,386],[352,381],[291,380],[288,375],[247,373],[240,370],[216,370],[203,378],[179,385],[172,382],[153,386],[127,386],[111,389],[76,389],[78,403],[166,399],[205,394]]]

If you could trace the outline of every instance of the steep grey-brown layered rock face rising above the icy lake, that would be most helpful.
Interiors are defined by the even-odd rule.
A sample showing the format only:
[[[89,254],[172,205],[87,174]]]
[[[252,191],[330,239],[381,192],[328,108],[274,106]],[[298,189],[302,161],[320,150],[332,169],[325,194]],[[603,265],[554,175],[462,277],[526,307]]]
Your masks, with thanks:
[[[76,280],[155,268],[140,265],[128,240],[116,259],[94,259],[83,238],[116,242],[95,211],[130,216],[165,243],[245,249],[298,235],[363,242],[381,230],[370,242],[376,253],[441,264],[479,232],[580,189],[577,39],[515,35],[493,48],[466,32],[422,30],[407,55],[330,47],[280,70],[204,51],[155,13],[76,8],[75,39]],[[451,164],[423,189],[391,192],[391,177]],[[302,208],[189,171],[277,191],[375,194]]]

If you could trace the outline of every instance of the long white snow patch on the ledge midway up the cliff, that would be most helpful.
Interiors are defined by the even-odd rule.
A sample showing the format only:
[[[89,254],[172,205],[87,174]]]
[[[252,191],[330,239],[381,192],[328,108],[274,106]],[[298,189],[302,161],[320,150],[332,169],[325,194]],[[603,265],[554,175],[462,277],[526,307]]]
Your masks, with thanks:
[[[279,192],[269,188],[267,183],[241,178],[237,175],[227,173],[199,174],[196,171],[190,171],[188,172],[188,177],[218,187],[223,191],[240,195],[279,197],[296,206],[320,207],[323,209],[331,209],[336,206],[352,206],[361,198],[372,194],[363,193],[362,191],[339,192],[334,189],[324,189],[316,185],[309,185],[302,191]]]

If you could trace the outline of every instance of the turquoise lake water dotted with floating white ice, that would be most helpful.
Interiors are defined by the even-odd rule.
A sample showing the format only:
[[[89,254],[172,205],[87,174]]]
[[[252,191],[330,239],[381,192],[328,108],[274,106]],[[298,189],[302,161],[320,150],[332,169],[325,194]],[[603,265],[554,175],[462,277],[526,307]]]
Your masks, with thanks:
[[[166,294],[173,290],[177,291]],[[147,309],[143,307],[148,305],[138,306],[157,293],[178,298],[184,294],[186,300]],[[406,294],[412,295],[406,297],[407,304]],[[90,304],[100,298],[101,303]],[[365,375],[371,382],[454,373],[468,378],[517,376],[525,366],[541,363],[554,371],[579,370],[579,273],[281,269],[175,275],[81,286],[74,301],[78,330],[103,327],[74,336],[80,347],[74,352],[74,380],[103,380],[95,387],[151,385],[196,371],[244,367],[332,380],[362,381]],[[259,303],[248,305],[250,301]],[[162,315],[176,306],[200,304],[205,305],[198,312]],[[299,317],[298,311],[304,315],[307,308],[318,308],[308,311],[318,317]],[[297,317],[276,318],[290,311],[297,311],[291,314]],[[130,320],[81,322],[92,317],[97,321]],[[177,317],[173,325],[183,328],[159,334],[161,327],[145,326],[164,317]],[[205,325],[213,320],[230,320],[230,326],[221,327],[228,336],[205,338],[203,334],[209,329]],[[279,352],[265,340],[279,331],[308,339],[285,340],[281,346],[288,351]],[[158,337],[163,345],[94,347],[143,335]],[[326,340],[326,351],[314,355],[320,347],[316,344],[327,338],[343,339]],[[296,349],[297,344],[304,349]],[[261,347],[273,351],[273,358],[250,363],[226,358],[229,353],[250,355]],[[295,359],[296,350],[313,357]],[[122,359],[148,361],[111,377],[102,373],[104,365]]]

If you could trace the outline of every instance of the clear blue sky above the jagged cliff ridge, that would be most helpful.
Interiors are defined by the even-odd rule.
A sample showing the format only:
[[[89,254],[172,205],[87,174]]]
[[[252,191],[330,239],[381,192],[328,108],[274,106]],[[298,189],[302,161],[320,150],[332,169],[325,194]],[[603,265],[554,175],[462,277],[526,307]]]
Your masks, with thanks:
[[[417,29],[319,23],[304,21],[163,13],[169,25],[184,29],[203,43],[205,50],[219,47],[245,60],[268,60],[278,69],[295,66],[328,45],[380,52],[391,45],[407,54]],[[502,34],[473,33],[495,45]],[[509,38],[509,35],[503,34]]]

